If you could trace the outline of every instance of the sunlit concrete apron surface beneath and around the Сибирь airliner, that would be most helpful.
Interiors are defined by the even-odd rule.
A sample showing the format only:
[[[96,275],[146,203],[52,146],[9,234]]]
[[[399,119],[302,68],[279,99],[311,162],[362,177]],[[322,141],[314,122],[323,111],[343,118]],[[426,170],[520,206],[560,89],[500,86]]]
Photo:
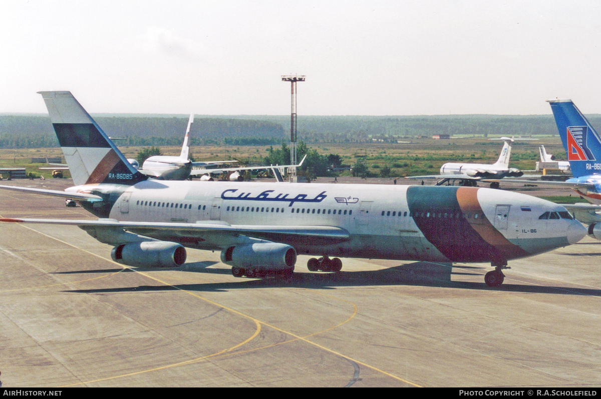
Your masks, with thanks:
[[[7,190],[0,215],[93,218]],[[499,288],[489,264],[343,259],[332,274],[300,256],[284,284],[234,278],[218,252],[129,269],[110,251],[77,227],[0,224],[4,387],[601,385],[593,239],[511,261]]]

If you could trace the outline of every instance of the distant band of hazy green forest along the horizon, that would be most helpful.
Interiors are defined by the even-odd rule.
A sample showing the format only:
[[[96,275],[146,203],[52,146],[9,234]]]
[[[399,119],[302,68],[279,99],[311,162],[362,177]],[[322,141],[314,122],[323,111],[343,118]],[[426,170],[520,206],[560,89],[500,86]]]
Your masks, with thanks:
[[[93,115],[119,145],[181,145],[188,115]],[[601,115],[587,116],[593,126]],[[306,143],[369,143],[448,135],[554,135],[552,115],[302,116],[298,137]],[[288,141],[288,115],[197,115],[192,145],[279,145]],[[50,118],[0,114],[0,148],[58,147]]]

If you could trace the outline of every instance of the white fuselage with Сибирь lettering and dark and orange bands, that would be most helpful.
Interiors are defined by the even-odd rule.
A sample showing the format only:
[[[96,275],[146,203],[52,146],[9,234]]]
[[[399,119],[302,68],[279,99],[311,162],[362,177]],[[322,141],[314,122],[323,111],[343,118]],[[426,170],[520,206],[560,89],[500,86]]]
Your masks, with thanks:
[[[457,187],[147,180],[129,187],[109,217],[118,221],[294,226],[301,231],[303,226],[339,227],[348,231],[350,238],[335,245],[310,238],[286,243],[299,254],[406,260],[460,261],[457,259],[465,257],[462,252],[483,251],[481,247],[487,245],[504,251],[507,258],[523,257],[569,245],[576,236],[578,240],[584,236],[579,235],[582,225],[571,219],[538,219],[544,212],[565,211],[549,201],[484,188],[459,190],[461,198]],[[459,205],[447,206],[442,197],[442,202],[435,203],[423,193],[448,196],[449,204],[459,199]],[[160,240],[177,240],[178,236],[164,231],[137,233]],[[230,245],[227,240],[210,238],[180,242],[201,249]]]

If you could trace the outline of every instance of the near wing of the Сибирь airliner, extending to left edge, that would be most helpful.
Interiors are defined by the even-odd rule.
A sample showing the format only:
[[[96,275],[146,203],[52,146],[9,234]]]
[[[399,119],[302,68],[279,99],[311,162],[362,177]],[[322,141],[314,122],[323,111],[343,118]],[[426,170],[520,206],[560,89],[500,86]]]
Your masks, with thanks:
[[[177,239],[195,238],[230,245],[227,237],[246,236],[258,239],[312,242],[340,243],[349,239],[349,232],[340,227],[332,226],[271,226],[271,225],[230,225],[203,221],[197,223],[163,223],[163,222],[120,222],[116,219],[64,220],[64,219],[19,219],[0,218],[0,222],[58,224],[78,226],[84,230],[90,228],[118,228],[133,231],[137,234],[149,234],[162,231],[165,236]]]

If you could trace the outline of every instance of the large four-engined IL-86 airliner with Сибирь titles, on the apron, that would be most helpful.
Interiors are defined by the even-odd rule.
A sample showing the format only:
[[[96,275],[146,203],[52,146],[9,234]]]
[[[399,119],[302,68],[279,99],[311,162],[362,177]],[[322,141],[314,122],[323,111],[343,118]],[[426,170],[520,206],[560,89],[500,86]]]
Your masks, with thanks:
[[[290,276],[297,254],[330,272],[341,270],[335,257],[490,262],[484,279],[498,286],[507,261],[586,235],[562,206],[487,188],[154,180],[69,91],[40,93],[76,186],[1,187],[73,198],[99,219],[0,220],[79,226],[129,266],[180,266],[185,247],[221,251],[239,277]]]

